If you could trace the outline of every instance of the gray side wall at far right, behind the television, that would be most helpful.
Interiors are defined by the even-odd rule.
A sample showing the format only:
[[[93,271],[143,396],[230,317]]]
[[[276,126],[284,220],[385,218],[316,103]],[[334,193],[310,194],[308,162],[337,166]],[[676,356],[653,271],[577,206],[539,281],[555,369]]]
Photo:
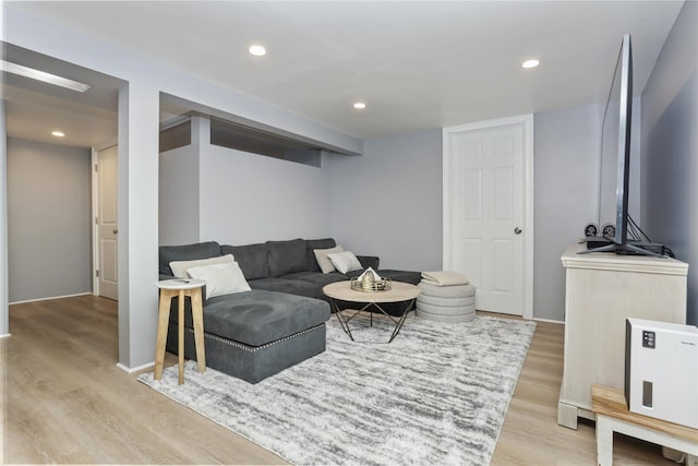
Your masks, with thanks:
[[[698,325],[698,3],[687,1],[642,94],[642,218],[689,264],[687,321]]]

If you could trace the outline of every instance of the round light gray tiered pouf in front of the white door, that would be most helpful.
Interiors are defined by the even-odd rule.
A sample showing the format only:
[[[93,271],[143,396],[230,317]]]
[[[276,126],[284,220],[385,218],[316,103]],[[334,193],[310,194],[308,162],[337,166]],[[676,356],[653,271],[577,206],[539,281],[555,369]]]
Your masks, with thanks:
[[[422,280],[417,286],[422,290],[414,304],[418,316],[438,322],[471,322],[476,318],[473,285],[436,286]]]

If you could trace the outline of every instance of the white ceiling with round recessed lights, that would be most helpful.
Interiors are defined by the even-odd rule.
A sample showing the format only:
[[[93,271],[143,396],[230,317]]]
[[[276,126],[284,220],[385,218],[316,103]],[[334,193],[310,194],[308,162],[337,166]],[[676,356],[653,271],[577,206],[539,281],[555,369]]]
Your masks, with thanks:
[[[5,1],[4,5],[348,134],[373,139],[602,101],[625,33],[633,35],[639,95],[683,1]],[[252,43],[265,45],[268,55],[251,57],[246,48]],[[21,61],[22,50],[14,52]],[[528,58],[538,58],[541,65],[521,69]],[[96,74],[77,69],[73,79],[80,81],[81,75],[87,82]],[[103,81],[106,87],[100,92],[116,96],[118,84]],[[85,115],[94,119],[89,111],[99,118],[111,113],[116,134],[116,97],[113,107],[87,111],[93,104],[81,107],[70,104],[74,100],[70,96],[46,97],[53,89],[43,88],[37,95],[21,83],[8,82],[3,91],[10,100],[10,135],[31,139],[27,134],[33,131],[46,132],[39,128],[49,124],[44,116],[68,123]],[[70,110],[62,117],[55,115],[60,112],[60,99]],[[356,100],[365,101],[366,109],[354,110]],[[43,112],[41,105],[51,111]],[[80,133],[72,134],[75,141],[91,145],[88,124],[79,122],[74,131]]]

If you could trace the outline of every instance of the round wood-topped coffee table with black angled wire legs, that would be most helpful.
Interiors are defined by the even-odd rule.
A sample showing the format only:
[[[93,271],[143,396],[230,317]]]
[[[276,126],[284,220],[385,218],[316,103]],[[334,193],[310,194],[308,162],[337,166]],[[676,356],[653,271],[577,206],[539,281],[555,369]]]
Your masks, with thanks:
[[[388,343],[393,342],[393,339],[400,332],[400,328],[402,328],[405,319],[407,318],[407,314],[409,314],[409,312],[412,310],[414,300],[421,291],[422,290],[419,289],[419,287],[401,282],[393,282],[390,289],[382,291],[358,291],[351,289],[351,282],[335,282],[323,287],[323,292],[329,298],[332,307],[335,310],[335,315],[337,315],[337,320],[339,321],[341,328],[347,335],[349,335],[349,338],[351,338],[351,340],[353,340],[353,336],[351,335],[351,331],[349,330],[349,322],[360,312],[366,311],[369,308],[374,307],[378,311],[383,312],[383,314],[385,314],[389,320],[392,320],[393,323],[395,323],[395,330],[393,331]],[[342,315],[342,312],[349,310],[340,310],[337,306],[337,301],[359,302],[364,306],[359,310],[351,310],[353,311],[353,314],[346,318],[345,315]],[[409,303],[407,304],[407,308],[405,308],[402,314],[399,315],[399,319],[396,319],[394,315],[388,314],[381,307],[382,303],[401,301],[409,301]],[[373,325],[373,312],[370,312],[370,314],[371,325]]]

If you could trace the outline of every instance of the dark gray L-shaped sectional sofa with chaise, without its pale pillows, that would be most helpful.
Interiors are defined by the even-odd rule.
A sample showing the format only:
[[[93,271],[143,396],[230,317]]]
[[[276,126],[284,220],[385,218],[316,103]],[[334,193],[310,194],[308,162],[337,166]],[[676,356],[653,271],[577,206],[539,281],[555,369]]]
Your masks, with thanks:
[[[207,241],[159,248],[160,279],[172,278],[170,262],[232,254],[250,291],[204,300],[206,365],[256,383],[325,350],[325,322],[330,316],[325,285],[347,280],[369,266],[394,280],[417,284],[419,272],[382,271],[377,256],[357,258],[362,270],[323,273],[315,250],[336,247],[332,238],[221,246]],[[205,296],[205,294],[204,294]],[[178,312],[172,300],[167,350],[177,353]],[[191,303],[185,302],[184,357],[195,359]],[[396,303],[399,307],[400,303]],[[400,309],[395,309],[400,312]]]

